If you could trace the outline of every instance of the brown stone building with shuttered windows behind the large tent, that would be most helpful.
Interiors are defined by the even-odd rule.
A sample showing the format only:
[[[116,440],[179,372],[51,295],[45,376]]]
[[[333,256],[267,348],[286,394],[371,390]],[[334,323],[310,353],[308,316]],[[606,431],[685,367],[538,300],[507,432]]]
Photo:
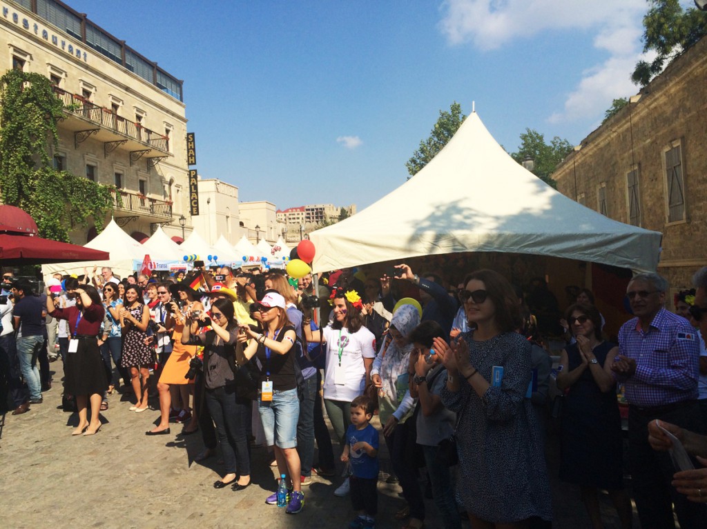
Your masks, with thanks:
[[[662,232],[658,272],[677,292],[707,265],[706,138],[703,39],[584,138],[552,177],[584,206]]]

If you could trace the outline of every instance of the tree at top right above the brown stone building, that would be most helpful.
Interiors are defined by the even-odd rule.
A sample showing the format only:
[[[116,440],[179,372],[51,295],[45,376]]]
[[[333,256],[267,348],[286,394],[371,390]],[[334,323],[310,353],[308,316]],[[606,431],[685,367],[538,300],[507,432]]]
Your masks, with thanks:
[[[641,87],[707,33],[707,16],[696,8],[685,10],[679,0],[648,2],[650,8],[643,17],[643,52],[654,51],[657,56],[653,62],[636,64],[631,81]]]

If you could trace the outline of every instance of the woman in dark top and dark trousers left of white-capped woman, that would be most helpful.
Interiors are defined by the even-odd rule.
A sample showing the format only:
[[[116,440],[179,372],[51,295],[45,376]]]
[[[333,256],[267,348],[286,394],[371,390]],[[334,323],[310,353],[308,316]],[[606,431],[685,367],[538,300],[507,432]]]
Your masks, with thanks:
[[[233,319],[233,302],[216,299],[211,305],[211,331],[194,335],[206,314],[187,309],[187,319],[180,338],[182,345],[204,347],[204,400],[216,425],[226,474],[214,482],[214,489],[230,486],[243,490],[250,485],[250,448],[247,428],[250,423],[250,400],[239,392],[234,371],[243,365],[243,348],[238,345],[238,323]],[[245,368],[241,368],[245,369]]]

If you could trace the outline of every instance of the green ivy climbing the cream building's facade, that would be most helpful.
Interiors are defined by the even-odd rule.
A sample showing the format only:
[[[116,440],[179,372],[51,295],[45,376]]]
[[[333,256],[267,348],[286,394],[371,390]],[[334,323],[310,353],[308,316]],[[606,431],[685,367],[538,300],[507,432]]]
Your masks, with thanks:
[[[77,225],[97,230],[112,208],[112,189],[52,167],[62,102],[39,73],[11,70],[0,78],[0,198],[37,222],[42,237],[69,241]]]

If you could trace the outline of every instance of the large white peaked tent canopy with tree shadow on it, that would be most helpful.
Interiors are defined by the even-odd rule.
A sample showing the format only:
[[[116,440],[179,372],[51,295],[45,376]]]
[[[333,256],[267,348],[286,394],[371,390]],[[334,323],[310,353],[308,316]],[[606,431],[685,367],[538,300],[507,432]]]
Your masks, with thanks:
[[[542,182],[496,143],[476,113],[398,189],[310,233],[315,272],[465,251],[655,271],[661,237],[585,208]]]

